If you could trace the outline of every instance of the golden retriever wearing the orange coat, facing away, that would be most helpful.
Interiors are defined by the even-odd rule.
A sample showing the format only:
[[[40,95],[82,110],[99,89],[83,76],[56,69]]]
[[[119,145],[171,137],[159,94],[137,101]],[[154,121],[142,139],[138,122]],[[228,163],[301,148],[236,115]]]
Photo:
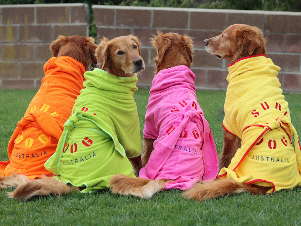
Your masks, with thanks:
[[[8,143],[8,161],[0,162],[0,188],[51,176],[45,161],[55,152],[63,125],[83,89],[84,72],[97,63],[92,37],[59,36],[50,45],[54,57],[44,65],[45,77]]]

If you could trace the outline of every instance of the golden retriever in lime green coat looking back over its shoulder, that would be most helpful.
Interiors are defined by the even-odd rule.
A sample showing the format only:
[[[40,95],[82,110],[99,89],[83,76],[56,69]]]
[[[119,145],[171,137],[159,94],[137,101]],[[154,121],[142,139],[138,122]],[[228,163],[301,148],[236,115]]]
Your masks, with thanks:
[[[103,38],[95,55],[101,66],[84,74],[85,89],[75,100],[55,153],[45,162],[56,177],[25,182],[10,197],[92,192],[108,188],[117,173],[138,174],[141,137],[133,95],[137,73],[145,67],[140,43],[133,35]]]

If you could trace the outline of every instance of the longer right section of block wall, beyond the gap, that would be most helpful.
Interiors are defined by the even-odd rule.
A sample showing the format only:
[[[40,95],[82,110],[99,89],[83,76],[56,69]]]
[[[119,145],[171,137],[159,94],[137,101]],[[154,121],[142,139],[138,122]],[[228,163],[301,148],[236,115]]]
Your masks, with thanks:
[[[147,69],[139,85],[149,87],[153,78],[150,38],[156,30],[178,32],[194,37],[193,71],[198,89],[226,89],[228,61],[209,55],[204,39],[219,35],[227,26],[244,23],[258,26],[267,37],[267,56],[281,67],[278,75],[287,92],[301,92],[301,12],[212,10],[188,8],[152,8],[126,6],[92,6],[98,41],[105,36],[133,34],[142,44]]]

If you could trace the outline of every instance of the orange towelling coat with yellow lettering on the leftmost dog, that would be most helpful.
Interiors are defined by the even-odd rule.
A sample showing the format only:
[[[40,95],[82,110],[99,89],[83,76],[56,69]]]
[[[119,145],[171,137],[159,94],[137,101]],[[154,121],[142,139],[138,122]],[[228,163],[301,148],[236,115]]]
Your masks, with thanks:
[[[44,73],[41,88],[8,143],[9,160],[0,162],[0,176],[13,172],[29,179],[52,175],[44,163],[55,152],[63,125],[83,89],[85,67],[69,56],[52,57],[44,65]]]

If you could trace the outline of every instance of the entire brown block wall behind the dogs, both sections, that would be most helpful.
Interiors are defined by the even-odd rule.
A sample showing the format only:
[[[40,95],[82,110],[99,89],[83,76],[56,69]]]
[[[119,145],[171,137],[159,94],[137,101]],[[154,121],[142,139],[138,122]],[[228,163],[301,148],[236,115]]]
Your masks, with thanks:
[[[59,34],[87,35],[89,18],[85,4],[21,6],[0,5],[1,89],[39,88],[42,65],[51,57],[48,50],[51,40]],[[194,37],[193,71],[198,89],[225,89],[228,62],[207,54],[203,40],[219,35],[231,24],[246,23],[258,26],[267,36],[267,56],[281,67],[278,77],[284,91],[301,92],[301,12],[104,5],[93,5],[92,9],[97,43],[103,36],[138,36],[147,64],[139,77],[140,87],[151,85],[154,50],[150,47],[150,38],[161,29]]]

